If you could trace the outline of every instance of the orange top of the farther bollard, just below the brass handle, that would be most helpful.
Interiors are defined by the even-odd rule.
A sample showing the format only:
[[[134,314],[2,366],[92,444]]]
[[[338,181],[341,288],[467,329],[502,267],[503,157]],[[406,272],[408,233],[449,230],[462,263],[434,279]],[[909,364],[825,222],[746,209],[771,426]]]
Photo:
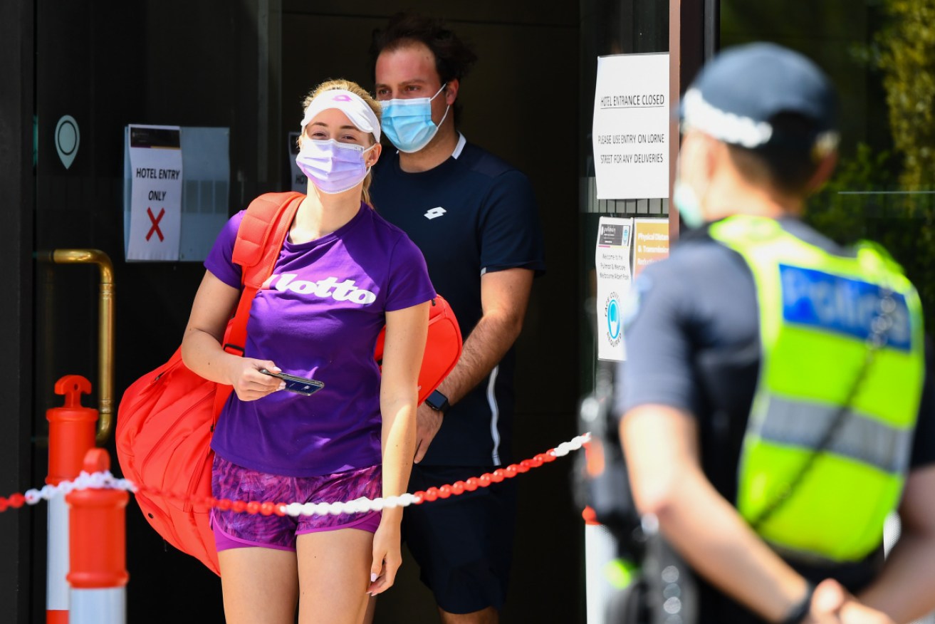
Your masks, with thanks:
[[[49,476],[57,486],[81,472],[84,456],[94,448],[97,410],[81,407],[81,394],[91,394],[91,382],[81,375],[65,375],[55,382],[55,394],[65,395],[65,406],[46,411],[49,420]]]

